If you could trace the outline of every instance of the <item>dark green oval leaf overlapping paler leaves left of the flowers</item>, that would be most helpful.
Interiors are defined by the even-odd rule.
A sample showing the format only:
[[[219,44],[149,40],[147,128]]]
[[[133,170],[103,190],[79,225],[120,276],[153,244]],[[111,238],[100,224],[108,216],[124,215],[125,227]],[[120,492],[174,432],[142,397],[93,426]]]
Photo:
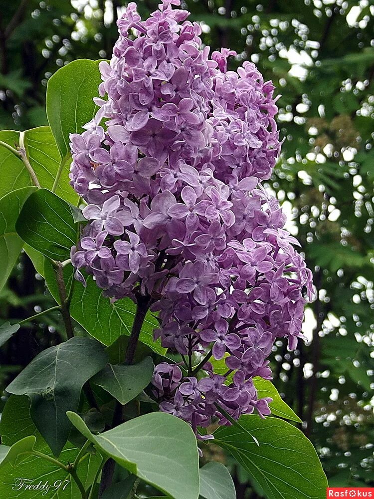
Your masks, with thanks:
[[[54,260],[70,258],[70,249],[77,238],[71,206],[47,189],[31,194],[15,229],[31,248]]]

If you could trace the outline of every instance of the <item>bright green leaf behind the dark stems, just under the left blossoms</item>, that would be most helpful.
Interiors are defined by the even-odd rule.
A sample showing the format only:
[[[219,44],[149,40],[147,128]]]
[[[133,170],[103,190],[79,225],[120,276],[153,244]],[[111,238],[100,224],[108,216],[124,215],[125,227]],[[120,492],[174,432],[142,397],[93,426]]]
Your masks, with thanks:
[[[56,278],[53,268],[48,261],[44,263],[44,278],[48,289],[57,302],[59,302]],[[73,267],[66,265],[64,279],[67,288],[73,279]],[[103,296],[93,277],[87,277],[87,286],[80,282],[74,283],[71,297],[70,313],[91,336],[101,341],[104,345],[111,345],[122,335],[129,336],[133,326],[136,305],[130,298],[123,298],[114,303]],[[159,327],[159,322],[148,312],[140,333],[140,341],[148,345],[154,352],[165,355],[166,348],[160,340],[153,340],[153,330]]]

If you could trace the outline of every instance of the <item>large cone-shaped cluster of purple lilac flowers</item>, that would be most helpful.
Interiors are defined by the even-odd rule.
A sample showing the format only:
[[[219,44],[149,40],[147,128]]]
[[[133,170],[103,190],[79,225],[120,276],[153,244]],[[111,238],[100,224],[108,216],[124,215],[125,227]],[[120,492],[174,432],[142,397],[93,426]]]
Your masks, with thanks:
[[[112,299],[150,296],[155,338],[187,369],[192,355],[204,359],[199,379],[172,362],[153,379],[160,409],[196,430],[213,417],[228,424],[225,412],[270,413],[252,378],[271,379],[276,338],[295,349],[313,288],[261,185],[280,152],[274,87],[251,62],[227,71],[235,52],[210,57],[199,24],[172,5],[180,1],[163,0],[142,21],[129,3],[113,58],[100,63],[99,110],[71,135],[71,185],[89,221],[72,262]],[[224,359],[226,376],[211,357]]]

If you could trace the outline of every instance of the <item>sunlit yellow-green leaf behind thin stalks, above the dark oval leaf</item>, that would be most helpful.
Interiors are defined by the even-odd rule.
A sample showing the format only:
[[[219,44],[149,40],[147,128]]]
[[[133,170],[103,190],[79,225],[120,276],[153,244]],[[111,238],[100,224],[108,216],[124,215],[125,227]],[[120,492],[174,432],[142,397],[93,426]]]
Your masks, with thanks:
[[[41,126],[27,130],[24,145],[41,187],[52,189],[61,158],[50,127]],[[76,205],[78,196],[69,184],[70,163],[71,158],[63,161],[62,173],[55,192],[63,200]]]

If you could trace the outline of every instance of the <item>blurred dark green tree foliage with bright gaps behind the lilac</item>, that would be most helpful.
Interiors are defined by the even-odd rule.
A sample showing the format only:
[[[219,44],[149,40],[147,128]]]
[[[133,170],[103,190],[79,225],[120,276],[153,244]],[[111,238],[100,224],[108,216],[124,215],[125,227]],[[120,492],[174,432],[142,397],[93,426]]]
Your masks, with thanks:
[[[137,1],[143,16],[157,3]],[[306,313],[308,345],[290,353],[277,343],[274,384],[304,422],[330,485],[373,487],[374,1],[184,3],[206,44],[235,49],[232,67],[252,60],[281,94],[284,144],[268,187],[289,214],[319,299]],[[48,78],[71,60],[110,57],[125,4],[0,1],[0,129],[46,125]],[[11,137],[0,132],[0,139]],[[1,149],[0,172],[7,156]],[[38,270],[22,253],[0,294],[2,319],[22,320],[54,304]],[[23,324],[0,350],[1,387],[63,331],[56,312]],[[262,497],[222,452],[205,459],[231,467],[238,499]]]

